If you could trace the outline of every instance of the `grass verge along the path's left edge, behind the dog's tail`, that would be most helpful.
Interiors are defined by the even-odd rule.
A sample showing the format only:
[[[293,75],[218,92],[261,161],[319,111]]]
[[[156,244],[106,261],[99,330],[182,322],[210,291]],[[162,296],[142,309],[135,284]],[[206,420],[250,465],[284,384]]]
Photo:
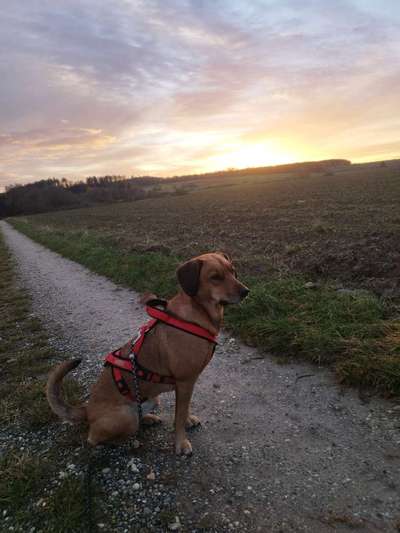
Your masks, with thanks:
[[[12,258],[0,235],[0,424],[9,428],[9,440],[0,458],[0,516],[7,529],[43,532],[82,531],[86,519],[83,478],[57,480],[65,468],[59,446],[46,447],[45,455],[36,453],[40,431],[55,420],[44,386],[48,369],[57,354],[50,347],[40,321],[33,316],[28,295],[15,279]],[[65,393],[69,401],[81,396],[80,385],[68,380]],[[77,431],[69,431],[69,437]],[[22,435],[25,451],[21,451]],[[39,447],[40,450],[40,447]],[[83,460],[83,459],[82,459]],[[4,525],[4,528],[6,526]],[[3,531],[3,529],[1,529]]]

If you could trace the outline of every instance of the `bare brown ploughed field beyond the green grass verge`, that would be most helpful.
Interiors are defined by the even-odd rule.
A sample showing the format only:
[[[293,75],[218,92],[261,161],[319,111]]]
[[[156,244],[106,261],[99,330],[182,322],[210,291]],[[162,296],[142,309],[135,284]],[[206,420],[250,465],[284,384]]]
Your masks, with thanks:
[[[51,231],[100,235],[127,252],[188,258],[221,249],[242,274],[301,273],[400,296],[400,172],[327,174],[207,180],[185,195],[29,221]]]

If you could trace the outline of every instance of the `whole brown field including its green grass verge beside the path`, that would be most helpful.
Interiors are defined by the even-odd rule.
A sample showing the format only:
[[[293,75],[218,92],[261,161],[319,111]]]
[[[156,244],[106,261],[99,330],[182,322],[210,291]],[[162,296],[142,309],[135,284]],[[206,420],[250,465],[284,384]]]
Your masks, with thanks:
[[[227,316],[242,338],[280,357],[333,364],[342,381],[399,394],[399,207],[395,169],[356,168],[207,179],[187,194],[12,223],[160,296],[175,290],[179,260],[224,250],[252,288]]]

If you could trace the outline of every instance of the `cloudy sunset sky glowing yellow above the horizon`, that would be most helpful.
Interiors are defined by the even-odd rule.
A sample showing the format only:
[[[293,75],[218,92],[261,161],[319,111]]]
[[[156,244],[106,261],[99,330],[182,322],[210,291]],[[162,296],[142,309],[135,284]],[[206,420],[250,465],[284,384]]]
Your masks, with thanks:
[[[0,188],[400,157],[399,0],[0,0]]]

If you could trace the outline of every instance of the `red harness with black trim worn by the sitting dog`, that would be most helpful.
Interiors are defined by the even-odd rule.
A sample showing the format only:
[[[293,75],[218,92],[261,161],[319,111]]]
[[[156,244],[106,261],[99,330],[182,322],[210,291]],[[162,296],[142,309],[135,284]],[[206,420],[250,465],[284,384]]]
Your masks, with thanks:
[[[194,324],[193,322],[187,322],[180,318],[176,318],[173,315],[169,314],[167,311],[159,309],[157,306],[162,305],[165,307],[167,302],[164,300],[152,300],[148,302],[146,307],[147,314],[151,316],[151,320],[146,322],[136,335],[136,337],[131,341],[131,346],[129,352],[126,356],[121,355],[121,350],[115,350],[106,355],[105,366],[111,366],[112,376],[115,384],[121,394],[127,396],[133,402],[136,401],[135,395],[132,394],[126,380],[124,379],[123,371],[126,372],[135,372],[136,377],[142,381],[149,381],[151,383],[160,383],[166,385],[175,385],[175,379],[172,376],[162,376],[157,372],[152,372],[138,362],[138,355],[140,349],[142,348],[144,339],[149,331],[151,331],[158,322],[163,322],[168,326],[186,331],[191,335],[196,337],[201,337],[206,339],[209,342],[217,344],[217,336],[210,333],[207,329]],[[133,357],[132,357],[133,355]],[[142,399],[144,402],[145,399]]]

